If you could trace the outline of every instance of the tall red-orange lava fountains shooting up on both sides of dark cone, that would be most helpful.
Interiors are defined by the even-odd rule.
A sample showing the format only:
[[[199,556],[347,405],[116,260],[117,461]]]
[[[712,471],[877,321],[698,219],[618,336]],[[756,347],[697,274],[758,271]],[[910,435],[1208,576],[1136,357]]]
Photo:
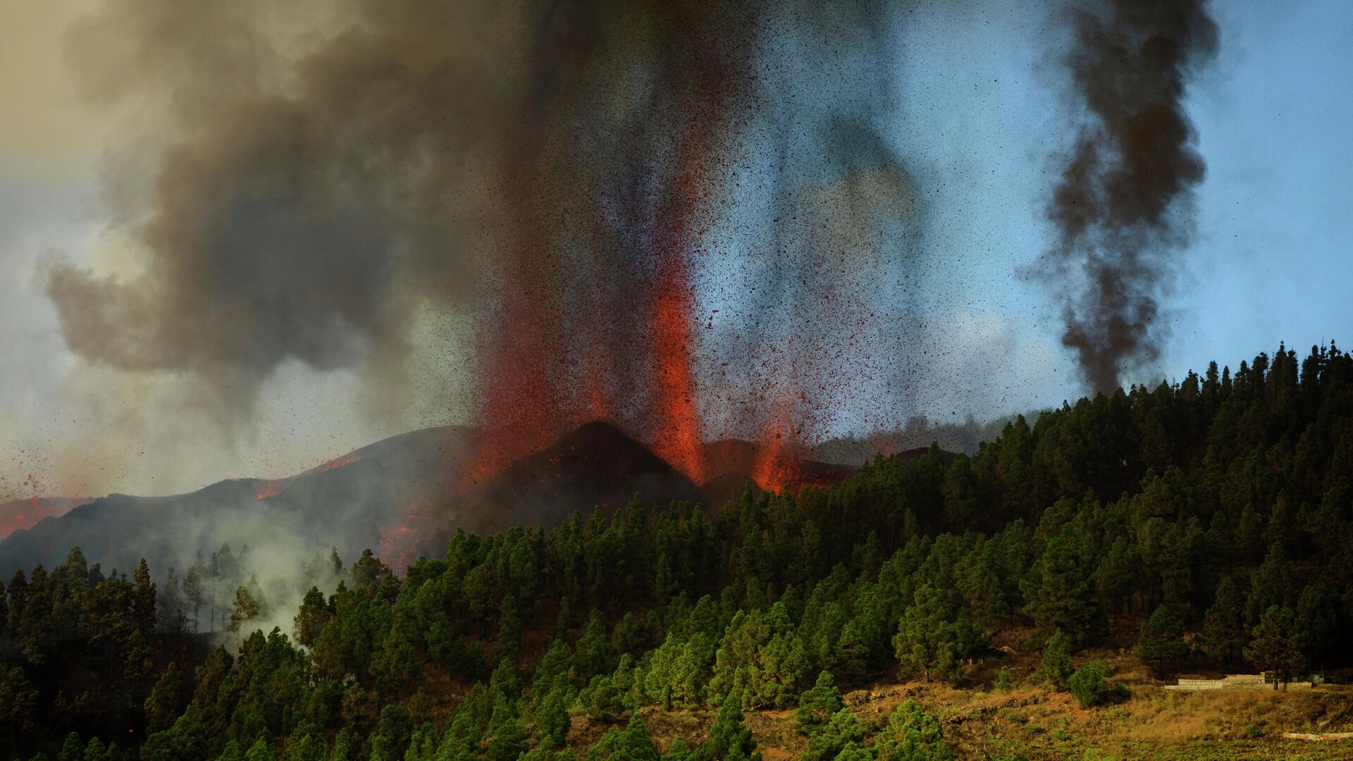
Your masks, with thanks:
[[[737,66],[720,53],[720,41],[668,42],[674,54],[690,57],[685,65],[690,76],[674,80],[672,97],[682,104],[682,116],[664,133],[663,139],[670,142],[653,148],[670,152],[655,162],[660,190],[635,206],[647,209],[651,200],[652,217],[644,218],[640,211],[617,232],[617,240],[624,241],[620,245],[630,248],[621,253],[609,248],[616,241],[607,214],[599,211],[609,190],[580,202],[582,207],[591,203],[598,210],[591,232],[584,232],[582,240],[570,238],[567,223],[551,218],[560,209],[571,209],[572,200],[556,198],[559,194],[568,196],[580,188],[586,192],[589,186],[582,176],[576,187],[543,184],[541,162],[560,160],[552,153],[559,146],[556,135],[547,122],[520,127],[520,157],[501,175],[503,203],[514,210],[515,221],[502,241],[506,290],[495,316],[498,325],[480,352],[484,437],[461,486],[491,477],[568,427],[590,420],[628,428],[672,467],[697,483],[705,481],[693,272],[697,257],[705,253],[712,203],[728,167],[728,103],[747,83],[735,81]],[[599,278],[616,267],[616,257],[640,272],[633,284],[641,290],[624,294],[641,305],[637,330],[630,332],[632,325],[616,326],[609,314],[603,316],[614,309],[601,295],[606,283],[598,283],[595,292],[586,286],[583,292],[576,292],[575,286],[561,287],[568,279],[557,268],[566,261],[572,265],[575,260],[567,259],[564,249],[574,244],[591,246],[589,271]]]

